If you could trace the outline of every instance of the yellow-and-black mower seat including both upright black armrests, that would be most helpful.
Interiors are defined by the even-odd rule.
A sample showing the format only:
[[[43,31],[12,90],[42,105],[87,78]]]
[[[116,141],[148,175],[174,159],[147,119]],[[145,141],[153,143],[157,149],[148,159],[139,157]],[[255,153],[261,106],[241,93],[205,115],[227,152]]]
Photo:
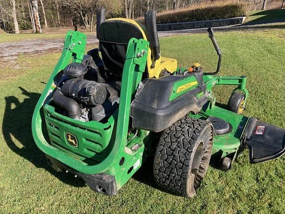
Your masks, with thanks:
[[[145,14],[146,28],[139,22],[126,18],[112,18],[105,21],[105,9],[97,10],[97,38],[103,62],[109,72],[121,77],[127,45],[131,38],[144,39],[150,42],[147,55],[147,76],[159,78],[162,71],[174,72],[177,60],[161,57],[156,28],[155,11]],[[146,30],[147,29],[147,30]]]

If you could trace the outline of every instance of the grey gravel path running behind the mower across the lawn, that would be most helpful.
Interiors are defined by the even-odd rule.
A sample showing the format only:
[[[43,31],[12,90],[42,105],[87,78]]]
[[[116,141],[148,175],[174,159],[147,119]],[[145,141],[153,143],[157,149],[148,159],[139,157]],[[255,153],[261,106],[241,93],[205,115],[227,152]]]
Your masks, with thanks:
[[[246,31],[246,30],[258,30],[265,28],[284,28],[285,23],[275,24],[256,24],[256,25],[239,25],[239,26],[226,26],[217,27],[215,31]],[[165,31],[159,32],[159,37],[191,34],[191,33],[206,33],[206,29],[187,29],[177,31]],[[13,64],[14,68],[17,68],[16,59],[20,54],[43,54],[47,52],[60,52],[63,47],[62,39],[47,39],[47,40],[24,40],[21,42],[1,43],[0,49],[0,68]],[[98,43],[96,34],[88,35],[87,45],[93,45]]]

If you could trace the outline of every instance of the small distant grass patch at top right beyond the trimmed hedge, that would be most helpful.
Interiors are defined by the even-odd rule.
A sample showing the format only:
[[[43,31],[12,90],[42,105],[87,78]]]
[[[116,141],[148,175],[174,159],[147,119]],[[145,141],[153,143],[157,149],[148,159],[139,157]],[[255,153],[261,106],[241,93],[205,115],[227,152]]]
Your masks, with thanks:
[[[270,22],[285,20],[285,9],[256,10],[247,14],[246,22]]]

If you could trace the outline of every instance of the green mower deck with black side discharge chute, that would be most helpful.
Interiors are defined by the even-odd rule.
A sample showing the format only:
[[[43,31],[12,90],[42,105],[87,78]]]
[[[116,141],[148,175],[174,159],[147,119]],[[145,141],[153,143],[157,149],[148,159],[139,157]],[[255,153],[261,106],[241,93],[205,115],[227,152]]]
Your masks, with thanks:
[[[215,135],[212,155],[218,159],[235,158],[240,148],[249,149],[250,163],[276,159],[285,153],[285,129],[216,106],[190,116],[206,120],[217,117],[231,125],[229,133]]]

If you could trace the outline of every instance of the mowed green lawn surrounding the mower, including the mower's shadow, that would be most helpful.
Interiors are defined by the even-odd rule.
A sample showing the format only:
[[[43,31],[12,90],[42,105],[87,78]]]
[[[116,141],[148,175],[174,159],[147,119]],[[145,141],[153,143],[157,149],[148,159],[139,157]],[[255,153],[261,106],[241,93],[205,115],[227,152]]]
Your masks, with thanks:
[[[285,29],[216,37],[223,51],[220,74],[248,77],[245,114],[285,128]],[[161,49],[179,65],[198,61],[205,70],[216,69],[217,56],[205,34],[162,38]],[[58,57],[21,56],[22,68],[0,71],[6,73],[0,81],[0,213],[284,214],[285,158],[251,165],[244,155],[228,172],[210,166],[192,199],[158,189],[151,162],[111,198],[79,178],[55,172],[34,144],[31,118]],[[227,103],[231,89],[215,89],[220,103]]]

